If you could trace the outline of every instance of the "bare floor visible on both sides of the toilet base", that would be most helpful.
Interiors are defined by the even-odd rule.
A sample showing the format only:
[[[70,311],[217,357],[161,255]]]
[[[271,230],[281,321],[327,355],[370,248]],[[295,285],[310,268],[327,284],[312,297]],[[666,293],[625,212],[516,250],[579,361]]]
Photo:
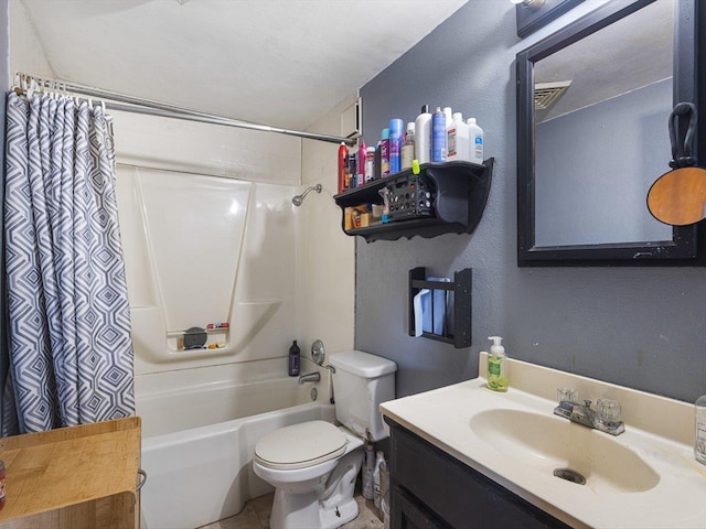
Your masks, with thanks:
[[[266,494],[250,499],[237,515],[216,521],[201,529],[267,529],[269,527],[269,511],[272,508],[272,494]],[[342,529],[383,529],[384,523],[377,517],[377,509],[372,499],[365,499],[361,494],[355,495],[360,509],[357,518],[342,527]]]

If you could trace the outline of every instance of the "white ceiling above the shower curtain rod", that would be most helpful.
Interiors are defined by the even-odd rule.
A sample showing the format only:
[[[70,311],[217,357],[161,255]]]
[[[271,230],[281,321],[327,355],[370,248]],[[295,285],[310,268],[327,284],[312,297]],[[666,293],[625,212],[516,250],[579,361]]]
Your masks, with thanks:
[[[296,129],[467,1],[21,0],[56,78]]]

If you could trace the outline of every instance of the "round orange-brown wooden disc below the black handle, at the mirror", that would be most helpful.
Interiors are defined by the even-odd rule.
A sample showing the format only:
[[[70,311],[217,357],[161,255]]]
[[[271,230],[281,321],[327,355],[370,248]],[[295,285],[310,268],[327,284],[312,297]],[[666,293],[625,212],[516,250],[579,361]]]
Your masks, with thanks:
[[[672,226],[688,226],[706,218],[706,170],[682,168],[657,179],[648,193],[654,218]]]

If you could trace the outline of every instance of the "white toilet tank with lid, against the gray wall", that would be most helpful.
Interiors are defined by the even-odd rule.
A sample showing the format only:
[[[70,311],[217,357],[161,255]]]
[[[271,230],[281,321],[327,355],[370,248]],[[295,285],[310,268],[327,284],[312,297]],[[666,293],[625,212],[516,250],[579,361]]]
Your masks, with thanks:
[[[378,407],[395,398],[397,364],[362,350],[336,353],[330,361],[338,421],[370,441],[387,438]]]

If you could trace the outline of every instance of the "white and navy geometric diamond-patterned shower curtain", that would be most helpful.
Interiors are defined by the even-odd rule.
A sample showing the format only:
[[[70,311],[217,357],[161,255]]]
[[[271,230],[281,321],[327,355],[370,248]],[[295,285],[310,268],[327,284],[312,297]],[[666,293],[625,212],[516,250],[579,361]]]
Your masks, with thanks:
[[[3,413],[2,435],[135,413],[113,133],[104,109],[92,107],[8,95],[4,259],[17,424]]]

